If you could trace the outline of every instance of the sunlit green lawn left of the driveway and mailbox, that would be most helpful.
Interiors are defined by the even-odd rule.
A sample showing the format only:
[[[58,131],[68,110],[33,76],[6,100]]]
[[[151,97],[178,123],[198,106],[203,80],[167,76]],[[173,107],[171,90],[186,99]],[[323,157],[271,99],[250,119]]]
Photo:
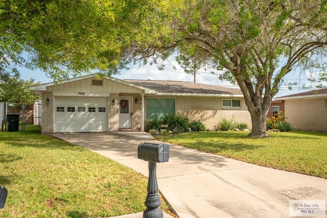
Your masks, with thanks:
[[[1,131],[0,151],[0,185],[8,189],[0,217],[107,217],[146,209],[146,177],[87,149],[41,135],[35,126]]]

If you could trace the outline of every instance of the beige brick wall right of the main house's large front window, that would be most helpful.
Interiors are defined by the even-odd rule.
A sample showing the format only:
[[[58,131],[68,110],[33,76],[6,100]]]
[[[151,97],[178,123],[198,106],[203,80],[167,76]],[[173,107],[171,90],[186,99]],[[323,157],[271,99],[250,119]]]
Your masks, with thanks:
[[[151,98],[157,98],[151,96]],[[160,98],[174,98],[172,96],[161,96]],[[234,118],[236,123],[245,123],[251,129],[251,116],[247,110],[244,99],[233,98],[241,100],[241,108],[223,108],[223,99],[217,97],[203,97],[203,96],[178,96],[175,99],[176,114],[184,114],[189,117],[190,122],[200,120],[205,124],[206,128],[213,130],[221,118]]]

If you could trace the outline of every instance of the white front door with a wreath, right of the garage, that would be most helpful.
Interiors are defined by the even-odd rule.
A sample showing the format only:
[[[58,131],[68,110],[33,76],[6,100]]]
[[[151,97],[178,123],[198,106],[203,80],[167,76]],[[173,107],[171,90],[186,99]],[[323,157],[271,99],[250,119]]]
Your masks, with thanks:
[[[132,98],[121,97],[119,98],[119,128],[130,129],[132,128]]]

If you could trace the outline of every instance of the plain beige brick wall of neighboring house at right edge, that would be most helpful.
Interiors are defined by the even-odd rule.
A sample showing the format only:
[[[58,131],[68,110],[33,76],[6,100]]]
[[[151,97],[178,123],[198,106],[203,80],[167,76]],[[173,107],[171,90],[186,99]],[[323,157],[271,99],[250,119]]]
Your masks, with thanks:
[[[326,98],[285,100],[286,121],[295,130],[327,132]]]

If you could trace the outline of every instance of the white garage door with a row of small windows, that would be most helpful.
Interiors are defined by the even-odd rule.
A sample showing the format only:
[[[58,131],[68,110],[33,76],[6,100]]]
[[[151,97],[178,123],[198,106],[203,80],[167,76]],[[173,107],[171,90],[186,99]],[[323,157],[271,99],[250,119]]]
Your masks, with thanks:
[[[55,96],[54,132],[107,132],[107,98]]]

